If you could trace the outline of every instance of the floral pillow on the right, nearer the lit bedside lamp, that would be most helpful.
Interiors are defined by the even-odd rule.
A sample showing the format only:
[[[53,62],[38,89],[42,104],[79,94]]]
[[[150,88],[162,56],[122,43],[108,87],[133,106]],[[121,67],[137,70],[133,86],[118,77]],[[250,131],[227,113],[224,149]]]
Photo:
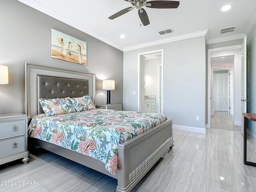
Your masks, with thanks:
[[[89,95],[71,98],[70,100],[72,102],[72,105],[76,109],[76,112],[96,109]]]

